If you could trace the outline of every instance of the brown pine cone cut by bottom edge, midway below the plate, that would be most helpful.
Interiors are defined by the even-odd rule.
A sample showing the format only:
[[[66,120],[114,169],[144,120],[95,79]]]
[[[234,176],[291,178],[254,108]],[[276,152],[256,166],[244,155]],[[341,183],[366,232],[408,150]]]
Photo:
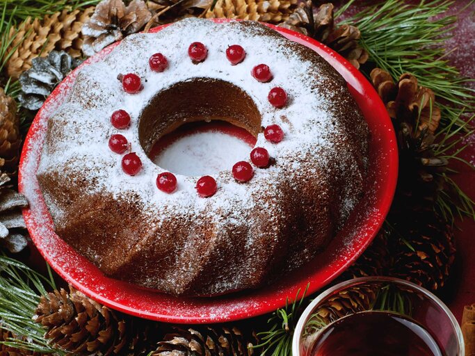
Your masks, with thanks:
[[[152,356],[249,356],[255,341],[236,327],[171,327]]]

